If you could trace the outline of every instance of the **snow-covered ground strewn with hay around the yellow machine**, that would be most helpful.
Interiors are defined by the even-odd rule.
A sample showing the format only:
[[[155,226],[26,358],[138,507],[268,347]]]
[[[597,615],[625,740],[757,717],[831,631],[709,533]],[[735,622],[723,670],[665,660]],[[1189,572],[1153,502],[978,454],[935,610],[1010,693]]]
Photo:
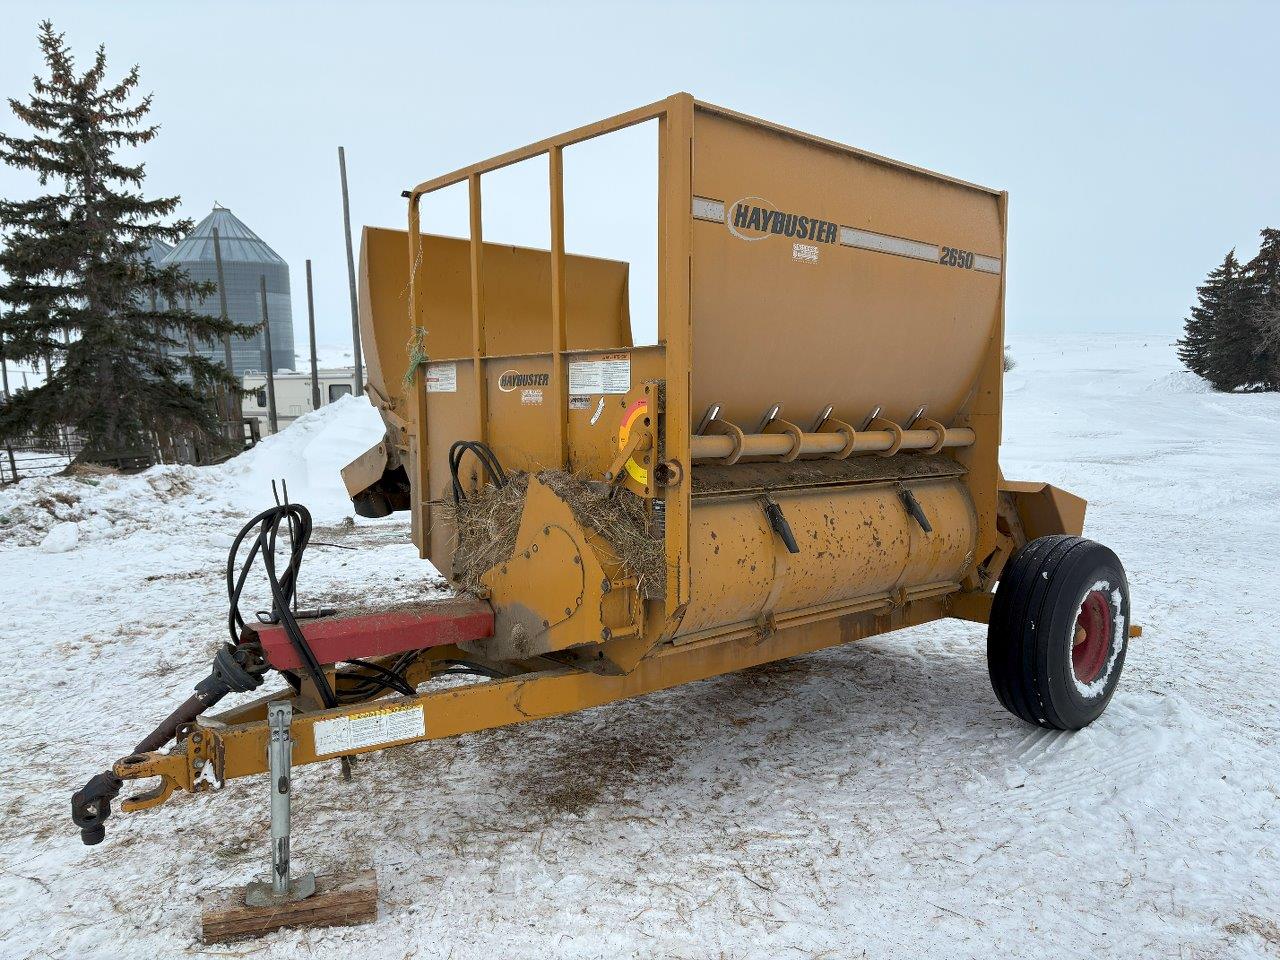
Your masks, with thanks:
[[[0,492],[0,956],[1276,956],[1280,396],[1206,393],[1169,339],[1012,343],[1005,474],[1089,499],[1146,628],[1088,730],[1007,716],[983,628],[942,622],[352,783],[302,768],[298,861],[376,867],[380,919],[229,948],[197,895],[262,873],[260,778],[97,847],[68,797],[204,675],[271,476],[362,548],[310,550],[305,602],[439,590],[403,521],[340,522],[330,471],[376,420],[351,399],[223,467]]]

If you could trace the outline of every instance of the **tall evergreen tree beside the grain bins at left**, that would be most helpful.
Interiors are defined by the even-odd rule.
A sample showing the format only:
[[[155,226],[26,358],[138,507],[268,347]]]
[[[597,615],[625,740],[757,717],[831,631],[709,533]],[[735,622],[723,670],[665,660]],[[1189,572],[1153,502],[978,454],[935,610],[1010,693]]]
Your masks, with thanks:
[[[63,35],[40,24],[47,77],[26,102],[9,100],[32,136],[0,133],[0,160],[36,173],[44,196],[0,200],[0,338],[15,361],[45,360],[49,380],[0,407],[0,438],[67,426],[84,438],[83,460],[152,449],[152,438],[216,430],[215,390],[236,388],[220,364],[187,351],[253,328],[201,316],[180,305],[211,293],[145,251],[177,242],[189,220],[164,224],[178,197],[146,200],[145,168],[119,152],[150,142],[151,96],[136,97],[138,68],[106,81],[99,47],[84,73]]]

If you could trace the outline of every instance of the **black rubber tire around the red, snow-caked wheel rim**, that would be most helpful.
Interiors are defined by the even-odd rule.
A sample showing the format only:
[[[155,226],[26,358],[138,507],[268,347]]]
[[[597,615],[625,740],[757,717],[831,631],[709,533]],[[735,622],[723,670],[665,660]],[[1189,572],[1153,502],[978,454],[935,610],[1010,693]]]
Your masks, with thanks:
[[[1106,659],[1092,684],[1080,684],[1071,666],[1076,616],[1100,585],[1111,617]],[[1080,536],[1042,536],[1012,556],[996,588],[987,626],[991,686],[1028,723],[1080,730],[1111,700],[1128,641],[1129,581],[1115,553]]]

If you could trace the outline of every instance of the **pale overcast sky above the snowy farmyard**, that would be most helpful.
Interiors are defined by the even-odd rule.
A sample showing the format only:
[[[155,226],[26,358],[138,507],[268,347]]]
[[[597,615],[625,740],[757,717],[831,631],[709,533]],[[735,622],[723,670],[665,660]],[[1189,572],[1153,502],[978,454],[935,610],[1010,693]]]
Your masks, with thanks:
[[[113,76],[138,63],[147,189],[195,219],[221,202],[288,260],[300,349],[307,257],[317,339],[349,330],[339,143],[357,229],[403,227],[406,187],[678,90],[1007,189],[1011,338],[1172,337],[1222,253],[1280,225],[1277,6],[6,3],[0,93],[29,91],[44,17],[82,64],[100,42]],[[621,256],[588,242],[608,216],[648,248],[643,214],[600,202],[611,163],[645,186],[646,136],[575,188],[571,250]],[[545,237],[544,172],[495,184],[486,239]],[[0,168],[0,195],[32,188]]]

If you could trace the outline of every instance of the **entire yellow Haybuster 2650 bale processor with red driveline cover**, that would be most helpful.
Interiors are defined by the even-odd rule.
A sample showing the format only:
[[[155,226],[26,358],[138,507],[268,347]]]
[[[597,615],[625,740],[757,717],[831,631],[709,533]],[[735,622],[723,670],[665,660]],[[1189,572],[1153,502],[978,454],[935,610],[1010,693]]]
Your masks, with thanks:
[[[564,246],[564,155],[643,123],[658,140],[653,346],[632,340],[628,265]],[[541,156],[550,248],[486,242],[486,175]],[[470,236],[435,236],[421,201],[454,184]],[[1082,499],[1007,481],[997,461],[1005,193],[677,93],[404,196],[407,230],[366,228],[361,248],[387,434],[343,476],[360,513],[407,511],[421,556],[465,589],[297,611],[310,518],[264,511],[228,566],[229,643],[76,795],[86,842],[123,781],[151,781],[123,804],[141,810],[942,617],[989,625],[992,685],[1021,719],[1074,730],[1103,710],[1129,636],[1124,570],[1080,538]],[[265,622],[238,612],[242,548],[268,563]],[[206,716],[273,669],[280,692]],[[470,682],[435,682],[457,675]],[[269,718],[269,700],[292,714]]]

